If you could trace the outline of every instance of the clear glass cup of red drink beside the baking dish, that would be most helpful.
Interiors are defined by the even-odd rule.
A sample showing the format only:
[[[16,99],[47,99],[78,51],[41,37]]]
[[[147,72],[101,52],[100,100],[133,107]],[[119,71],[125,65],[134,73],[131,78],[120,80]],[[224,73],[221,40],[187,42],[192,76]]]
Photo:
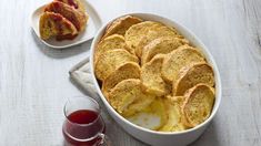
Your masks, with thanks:
[[[69,146],[110,146],[99,104],[91,97],[69,98],[62,133]]]

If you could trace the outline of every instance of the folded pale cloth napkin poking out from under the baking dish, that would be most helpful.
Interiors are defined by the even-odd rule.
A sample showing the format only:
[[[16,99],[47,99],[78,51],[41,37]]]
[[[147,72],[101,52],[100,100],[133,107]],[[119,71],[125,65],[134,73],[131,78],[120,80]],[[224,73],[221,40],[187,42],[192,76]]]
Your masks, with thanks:
[[[94,87],[93,81],[91,79],[91,65],[90,59],[78,63],[69,71],[70,77],[82,87],[87,94],[91,97],[98,97],[97,90]]]

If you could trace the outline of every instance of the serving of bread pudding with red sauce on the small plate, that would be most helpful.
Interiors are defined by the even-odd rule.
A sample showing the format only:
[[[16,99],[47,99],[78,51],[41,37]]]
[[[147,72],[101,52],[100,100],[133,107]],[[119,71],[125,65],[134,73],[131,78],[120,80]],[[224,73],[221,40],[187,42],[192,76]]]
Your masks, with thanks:
[[[53,19],[53,15],[59,19]],[[48,40],[53,36],[59,41],[74,39],[84,31],[87,21],[88,14],[81,9],[76,9],[72,1],[54,0],[46,6],[44,12],[40,17],[41,39]]]

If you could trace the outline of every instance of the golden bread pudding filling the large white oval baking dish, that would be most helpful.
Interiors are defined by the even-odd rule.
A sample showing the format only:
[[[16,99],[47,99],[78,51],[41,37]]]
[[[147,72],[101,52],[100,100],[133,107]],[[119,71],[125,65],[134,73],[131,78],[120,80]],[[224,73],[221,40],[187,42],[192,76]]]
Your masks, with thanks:
[[[192,128],[214,105],[214,73],[201,49],[160,22],[111,22],[94,50],[94,74],[120,115],[152,131]]]

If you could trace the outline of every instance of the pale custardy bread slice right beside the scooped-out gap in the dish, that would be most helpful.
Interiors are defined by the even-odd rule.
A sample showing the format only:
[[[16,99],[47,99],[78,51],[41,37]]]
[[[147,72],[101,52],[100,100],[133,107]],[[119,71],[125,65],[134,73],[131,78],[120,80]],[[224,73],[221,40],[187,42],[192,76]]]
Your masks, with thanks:
[[[161,132],[180,132],[184,131],[185,126],[182,123],[181,106],[183,105],[184,96],[167,96],[163,98],[165,113],[168,115],[167,123],[159,129]]]

